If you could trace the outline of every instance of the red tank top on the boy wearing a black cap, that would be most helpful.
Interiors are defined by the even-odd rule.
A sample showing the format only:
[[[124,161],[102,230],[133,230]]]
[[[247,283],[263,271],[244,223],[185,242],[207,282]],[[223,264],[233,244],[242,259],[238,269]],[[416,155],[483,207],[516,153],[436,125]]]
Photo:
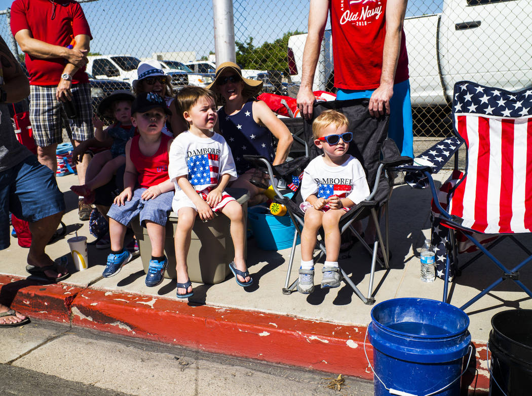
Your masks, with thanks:
[[[138,147],[139,138],[140,135],[137,135],[131,139],[131,149],[129,151],[131,162],[135,165],[138,173],[139,186],[148,188],[168,180],[168,142],[172,138],[161,133],[161,144],[151,157],[145,156],[140,152]]]

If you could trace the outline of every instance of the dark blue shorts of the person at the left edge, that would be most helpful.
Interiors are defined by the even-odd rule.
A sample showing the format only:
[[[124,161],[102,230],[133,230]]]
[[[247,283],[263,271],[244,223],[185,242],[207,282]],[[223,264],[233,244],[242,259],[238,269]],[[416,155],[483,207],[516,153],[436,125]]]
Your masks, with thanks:
[[[10,245],[9,212],[35,223],[64,210],[54,173],[35,156],[0,172],[0,250]]]

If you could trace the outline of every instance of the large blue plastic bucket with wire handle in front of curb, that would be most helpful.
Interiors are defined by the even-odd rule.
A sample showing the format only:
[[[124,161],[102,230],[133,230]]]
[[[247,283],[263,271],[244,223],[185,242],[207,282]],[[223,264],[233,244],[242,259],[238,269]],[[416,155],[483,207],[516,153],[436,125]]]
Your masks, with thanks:
[[[375,395],[460,394],[462,358],[471,344],[464,311],[436,300],[398,298],[373,307],[371,320]]]

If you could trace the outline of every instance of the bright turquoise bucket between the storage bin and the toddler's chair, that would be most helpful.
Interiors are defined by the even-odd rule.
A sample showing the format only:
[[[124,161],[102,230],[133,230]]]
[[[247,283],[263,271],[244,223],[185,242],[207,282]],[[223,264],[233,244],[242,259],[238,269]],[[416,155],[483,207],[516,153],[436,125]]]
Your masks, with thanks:
[[[257,205],[247,208],[247,218],[257,246],[262,250],[281,250],[292,247],[296,228],[290,216],[275,216],[270,209]],[[297,237],[297,245],[300,237]]]

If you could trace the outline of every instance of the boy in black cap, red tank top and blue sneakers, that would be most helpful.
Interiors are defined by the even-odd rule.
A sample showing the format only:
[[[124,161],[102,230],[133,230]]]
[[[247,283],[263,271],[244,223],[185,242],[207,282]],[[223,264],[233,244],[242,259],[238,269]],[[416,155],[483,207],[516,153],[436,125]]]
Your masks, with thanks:
[[[170,111],[164,99],[151,92],[139,94],[131,108],[131,123],[139,134],[126,144],[124,190],[107,212],[111,254],[107,256],[104,277],[116,275],[131,254],[124,250],[126,227],[137,215],[152,244],[152,259],[146,285],[163,281],[165,226],[172,209],[173,183],[168,177],[168,151],[172,138],[161,133]]]

